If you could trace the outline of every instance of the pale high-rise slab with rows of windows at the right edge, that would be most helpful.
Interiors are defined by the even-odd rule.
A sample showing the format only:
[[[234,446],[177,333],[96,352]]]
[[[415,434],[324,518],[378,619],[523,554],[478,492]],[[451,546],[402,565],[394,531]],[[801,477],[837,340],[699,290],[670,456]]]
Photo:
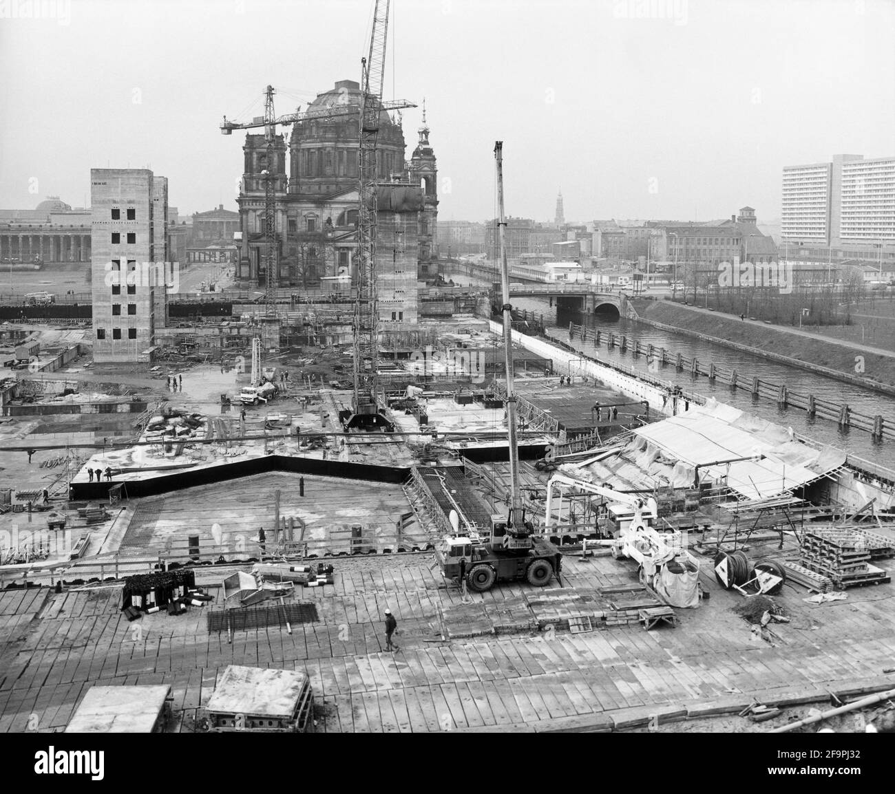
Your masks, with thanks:
[[[785,166],[780,237],[806,246],[895,243],[895,157]]]

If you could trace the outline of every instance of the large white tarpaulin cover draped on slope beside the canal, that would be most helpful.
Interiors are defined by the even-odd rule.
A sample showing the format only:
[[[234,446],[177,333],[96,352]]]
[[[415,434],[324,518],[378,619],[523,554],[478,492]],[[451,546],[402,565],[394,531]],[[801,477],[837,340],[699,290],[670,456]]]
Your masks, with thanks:
[[[700,480],[725,480],[747,499],[784,494],[845,463],[845,452],[798,443],[786,428],[716,401],[634,432],[629,454],[647,470],[657,461],[667,464],[670,485],[693,486],[700,466]],[[715,463],[733,458],[749,460]]]

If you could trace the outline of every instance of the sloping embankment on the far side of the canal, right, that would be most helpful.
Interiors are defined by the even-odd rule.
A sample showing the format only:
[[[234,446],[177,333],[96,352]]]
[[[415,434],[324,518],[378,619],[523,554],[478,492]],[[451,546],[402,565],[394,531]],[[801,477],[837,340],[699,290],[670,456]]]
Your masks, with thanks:
[[[661,331],[685,334],[895,396],[895,356],[881,356],[821,339],[781,333],[751,320],[744,323],[735,317],[706,315],[666,300],[635,300],[633,308],[635,311],[629,312],[628,317]],[[863,368],[864,376],[856,374],[858,366]]]

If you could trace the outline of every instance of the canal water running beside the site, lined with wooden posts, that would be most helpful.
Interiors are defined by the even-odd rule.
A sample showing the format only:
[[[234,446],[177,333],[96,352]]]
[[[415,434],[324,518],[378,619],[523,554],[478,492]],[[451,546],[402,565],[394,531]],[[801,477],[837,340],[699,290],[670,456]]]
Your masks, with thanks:
[[[833,378],[815,375],[798,367],[788,367],[785,364],[777,364],[748,353],[729,350],[685,334],[660,331],[650,325],[643,325],[625,318],[606,319],[585,315],[580,311],[566,310],[560,312],[557,317],[557,308],[555,306],[551,308],[548,300],[515,298],[513,306],[543,314],[547,333],[564,342],[568,341],[568,324],[570,322],[575,325],[584,324],[592,328],[599,328],[604,332],[626,334],[628,350],[624,353],[618,348],[613,348],[610,351],[605,343],[597,349],[590,340],[582,342],[576,338],[570,342],[576,349],[592,355],[596,359],[625,364],[627,367],[634,367],[646,373],[646,356],[635,356],[631,352],[631,348],[634,346],[633,342],[639,341],[644,345],[652,344],[657,348],[665,348],[669,354],[680,352],[685,356],[695,356],[701,364],[706,366],[713,361],[721,366],[736,369],[740,378],[746,379],[746,381],[751,381],[753,377],[759,377],[763,381],[773,384],[785,383],[791,392],[814,394],[817,399],[836,403],[846,402],[852,410],[870,416],[882,414],[883,418],[895,422],[895,398]],[[871,435],[864,430],[854,427],[842,429],[830,419],[809,418],[804,410],[780,408],[776,402],[753,398],[750,393],[742,389],[731,390],[728,384],[712,384],[707,376],[678,372],[673,364],[661,365],[661,370],[658,373],[652,373],[652,375],[669,381],[669,383],[678,384],[686,390],[715,397],[721,402],[727,402],[729,405],[734,405],[741,410],[746,410],[784,427],[792,427],[797,433],[807,435],[822,443],[830,443],[865,458],[865,460],[872,460],[882,466],[895,469],[895,443],[874,441]]]

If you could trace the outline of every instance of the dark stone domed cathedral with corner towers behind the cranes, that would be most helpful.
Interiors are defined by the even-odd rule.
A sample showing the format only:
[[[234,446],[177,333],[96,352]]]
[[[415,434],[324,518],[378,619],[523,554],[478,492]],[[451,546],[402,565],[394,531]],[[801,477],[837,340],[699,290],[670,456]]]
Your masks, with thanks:
[[[358,123],[360,85],[340,80],[335,88],[319,94],[308,111],[349,112],[328,119],[295,122],[288,142],[277,135],[271,162],[263,135],[247,135],[243,146],[244,166],[239,205],[242,240],[236,277],[245,287],[263,286],[265,274],[265,180],[273,173],[276,193],[277,261],[279,283],[301,293],[316,288],[321,279],[347,280],[354,276],[357,252]],[[419,130],[419,142],[410,160],[405,160],[405,139],[400,124],[383,111],[377,146],[377,174],[381,191],[418,191],[418,200],[401,213],[404,230],[397,239],[402,250],[385,250],[394,235],[379,236],[377,267],[412,254],[428,262],[436,256],[435,230],[438,218],[438,167],[429,143],[429,128]],[[389,188],[385,188],[388,183]],[[380,225],[390,229],[397,219],[379,202]],[[406,207],[419,207],[408,213]],[[385,231],[383,229],[383,231]],[[400,256],[399,256],[400,255]],[[380,262],[381,260],[381,262]],[[415,285],[415,267],[413,268]],[[386,284],[383,284],[386,287]],[[385,296],[382,296],[385,297]],[[396,315],[397,317],[397,315]]]

